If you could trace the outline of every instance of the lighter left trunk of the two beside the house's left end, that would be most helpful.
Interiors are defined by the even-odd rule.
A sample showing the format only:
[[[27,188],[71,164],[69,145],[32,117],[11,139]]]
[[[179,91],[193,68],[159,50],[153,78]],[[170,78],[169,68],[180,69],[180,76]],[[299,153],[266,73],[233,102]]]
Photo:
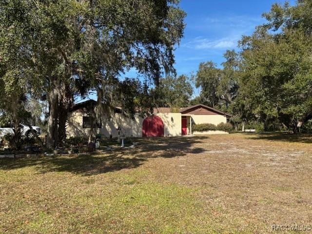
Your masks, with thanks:
[[[58,106],[59,92],[56,88],[50,93],[50,115],[47,131],[47,148],[55,148],[58,142]]]

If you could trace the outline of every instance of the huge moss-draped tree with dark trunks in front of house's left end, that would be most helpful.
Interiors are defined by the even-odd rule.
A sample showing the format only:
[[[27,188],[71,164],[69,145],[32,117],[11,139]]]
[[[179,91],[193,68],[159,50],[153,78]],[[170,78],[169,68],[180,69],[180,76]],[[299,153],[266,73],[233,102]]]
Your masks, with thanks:
[[[163,72],[175,74],[184,17],[176,0],[3,0],[0,89],[48,100],[48,146],[65,137],[74,97],[90,90],[100,116],[116,103],[129,115],[148,112],[148,86],[121,74],[134,69],[156,85]]]

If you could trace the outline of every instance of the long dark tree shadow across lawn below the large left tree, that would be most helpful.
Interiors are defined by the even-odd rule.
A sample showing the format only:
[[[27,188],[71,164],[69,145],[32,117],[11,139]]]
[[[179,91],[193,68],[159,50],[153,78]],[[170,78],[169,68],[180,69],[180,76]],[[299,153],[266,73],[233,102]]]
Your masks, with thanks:
[[[92,155],[6,158],[0,159],[0,170],[35,166],[39,173],[71,172],[83,176],[98,175],[121,169],[137,168],[149,158],[176,157],[199,154],[206,149],[194,147],[208,137],[135,138],[135,148],[116,148],[98,151]]]

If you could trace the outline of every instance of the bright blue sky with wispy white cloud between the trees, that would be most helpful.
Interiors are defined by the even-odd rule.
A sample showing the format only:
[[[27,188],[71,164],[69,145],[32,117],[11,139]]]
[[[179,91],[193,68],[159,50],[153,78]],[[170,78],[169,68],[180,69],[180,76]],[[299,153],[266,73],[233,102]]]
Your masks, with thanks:
[[[265,20],[262,13],[269,12],[273,3],[283,0],[181,0],[179,6],[186,13],[184,38],[176,48],[177,75],[196,73],[200,62],[224,61],[228,49],[237,49],[242,35],[251,35],[255,26]],[[295,0],[290,0],[294,4]],[[135,70],[125,77],[137,77]],[[195,89],[195,96],[199,89]]]

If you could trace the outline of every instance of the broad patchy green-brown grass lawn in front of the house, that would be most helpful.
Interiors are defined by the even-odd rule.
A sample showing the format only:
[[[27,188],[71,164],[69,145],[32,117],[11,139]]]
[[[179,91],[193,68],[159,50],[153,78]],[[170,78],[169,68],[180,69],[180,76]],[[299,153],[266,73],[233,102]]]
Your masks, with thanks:
[[[0,159],[0,233],[270,233],[273,224],[312,224],[311,135],[134,141],[94,156]]]

